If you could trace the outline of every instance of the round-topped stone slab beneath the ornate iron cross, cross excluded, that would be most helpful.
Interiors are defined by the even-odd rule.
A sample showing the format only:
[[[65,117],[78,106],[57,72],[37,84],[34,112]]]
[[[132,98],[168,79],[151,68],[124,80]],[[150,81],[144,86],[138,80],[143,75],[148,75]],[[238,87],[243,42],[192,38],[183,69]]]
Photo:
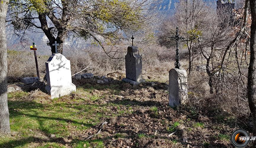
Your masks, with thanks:
[[[169,105],[176,107],[188,100],[187,72],[173,68],[169,71]]]

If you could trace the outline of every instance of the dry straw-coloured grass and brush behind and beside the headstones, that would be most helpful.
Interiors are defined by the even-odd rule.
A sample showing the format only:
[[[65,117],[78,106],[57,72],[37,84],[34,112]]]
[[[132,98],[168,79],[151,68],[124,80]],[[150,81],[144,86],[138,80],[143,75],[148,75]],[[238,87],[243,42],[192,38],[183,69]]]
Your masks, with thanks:
[[[147,81],[159,81],[168,83],[168,71],[174,67],[173,49],[167,49],[158,45],[139,45],[139,53],[142,57],[142,73],[143,78]],[[126,54],[127,47],[119,46],[117,57],[123,57]],[[94,75],[107,75],[117,72],[120,78],[125,74],[124,59],[112,59],[108,57],[98,47],[88,47],[84,50],[67,51],[66,57],[71,63],[72,74],[83,70],[81,73],[94,73]],[[186,59],[186,50],[181,50],[181,65],[187,70],[188,60]],[[45,75],[45,61],[49,56],[38,56],[38,65],[41,78]],[[205,61],[194,59],[195,64],[203,64]],[[249,112],[248,102],[245,99],[246,92],[241,87],[241,81],[236,81],[238,75],[227,75],[225,81],[219,85],[214,84],[220,89],[218,94],[209,93],[208,80],[209,77],[205,71],[194,71],[188,77],[189,85],[189,104],[197,109],[197,112],[208,113],[212,110],[221,112],[229,112],[235,116],[244,115]],[[236,67],[234,66],[235,70]],[[110,74],[111,75],[111,74]],[[27,51],[8,51],[8,81],[9,83],[18,82],[19,78],[26,76],[36,76],[36,68],[33,52]],[[118,79],[120,79],[118,78]],[[215,87],[214,86],[214,87]],[[46,99],[48,96],[40,96],[35,93],[31,95],[31,99],[40,98]],[[237,113],[239,112],[239,115]],[[240,114],[241,113],[241,114]]]

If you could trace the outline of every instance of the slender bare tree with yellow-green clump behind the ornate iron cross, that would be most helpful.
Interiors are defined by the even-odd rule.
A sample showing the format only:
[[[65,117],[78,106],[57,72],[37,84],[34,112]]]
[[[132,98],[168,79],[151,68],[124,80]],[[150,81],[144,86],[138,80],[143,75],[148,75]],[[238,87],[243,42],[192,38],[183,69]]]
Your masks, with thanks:
[[[197,39],[202,35],[202,25],[206,23],[209,7],[202,0],[183,0],[177,4],[175,16],[165,20],[160,27],[160,44],[170,47],[170,36],[175,33],[176,25],[181,34],[186,36],[186,47],[189,55],[189,75],[193,69],[194,53],[197,52]],[[175,24],[176,23],[176,24]]]

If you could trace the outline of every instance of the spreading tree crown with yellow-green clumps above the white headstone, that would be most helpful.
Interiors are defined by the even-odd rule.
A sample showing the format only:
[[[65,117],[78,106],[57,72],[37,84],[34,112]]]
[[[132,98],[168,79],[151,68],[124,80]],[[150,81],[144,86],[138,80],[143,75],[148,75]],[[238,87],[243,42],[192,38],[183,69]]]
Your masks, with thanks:
[[[101,46],[103,41],[117,44],[124,33],[146,26],[147,10],[153,6],[147,0],[11,0],[7,21],[15,31],[41,29],[49,45],[57,41],[58,53],[62,53],[70,36],[91,38]],[[55,52],[53,46],[51,51]]]

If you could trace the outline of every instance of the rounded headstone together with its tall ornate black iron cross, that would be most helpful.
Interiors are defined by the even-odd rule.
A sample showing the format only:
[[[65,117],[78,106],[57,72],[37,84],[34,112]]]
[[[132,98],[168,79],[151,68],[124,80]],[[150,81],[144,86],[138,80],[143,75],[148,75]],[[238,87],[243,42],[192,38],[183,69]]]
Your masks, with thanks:
[[[179,29],[176,28],[176,36],[172,36],[176,41],[175,68],[169,71],[169,105],[176,107],[179,104],[185,104],[188,100],[188,82],[187,72],[180,68],[178,42],[184,38],[179,36]]]

